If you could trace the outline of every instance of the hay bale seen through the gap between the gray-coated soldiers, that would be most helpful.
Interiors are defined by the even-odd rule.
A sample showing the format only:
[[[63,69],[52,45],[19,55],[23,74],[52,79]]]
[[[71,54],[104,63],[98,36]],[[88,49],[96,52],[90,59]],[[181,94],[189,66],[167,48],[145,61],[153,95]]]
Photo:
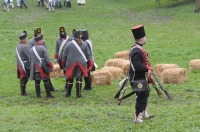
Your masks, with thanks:
[[[51,78],[60,78],[64,77],[63,70],[60,69],[59,64],[53,65],[53,71],[50,73]]]

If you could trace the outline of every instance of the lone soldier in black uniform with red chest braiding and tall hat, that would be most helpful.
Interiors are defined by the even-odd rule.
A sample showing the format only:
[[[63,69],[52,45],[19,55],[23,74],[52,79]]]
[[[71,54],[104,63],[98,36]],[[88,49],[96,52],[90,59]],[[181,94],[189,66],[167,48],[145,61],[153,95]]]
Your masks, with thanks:
[[[132,29],[135,38],[135,44],[130,51],[130,69],[129,77],[130,83],[134,80],[148,80],[151,77],[151,65],[148,59],[148,53],[143,49],[146,44],[146,35],[143,25],[137,25]],[[147,81],[148,83],[148,81]],[[134,87],[132,87],[134,89]],[[135,104],[135,123],[142,123],[143,119],[149,119],[154,115],[147,113],[147,100],[149,97],[149,86],[144,91],[136,91],[136,104]]]

